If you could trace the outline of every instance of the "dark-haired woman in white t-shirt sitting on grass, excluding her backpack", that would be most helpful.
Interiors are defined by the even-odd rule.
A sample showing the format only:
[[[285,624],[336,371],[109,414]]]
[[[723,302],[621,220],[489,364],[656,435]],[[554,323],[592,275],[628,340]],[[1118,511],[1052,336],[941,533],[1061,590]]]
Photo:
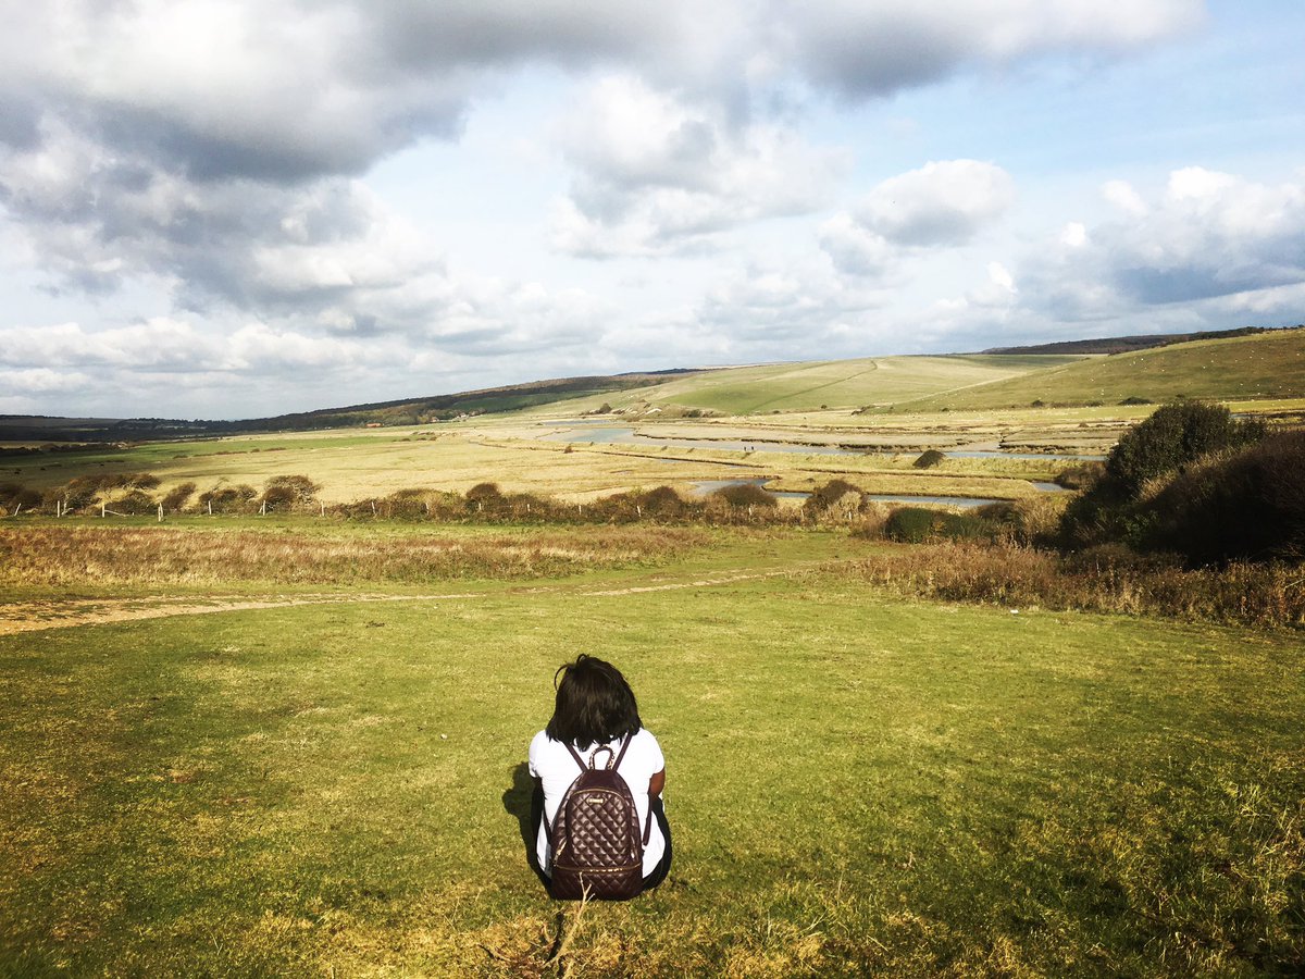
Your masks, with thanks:
[[[553,717],[530,743],[530,774],[539,779],[531,813],[539,869],[545,878],[551,873],[551,828],[581,765],[600,769],[620,757],[616,771],[634,798],[639,828],[647,828],[642,890],[655,888],[671,869],[671,828],[662,801],[666,760],[656,738],[639,721],[634,692],[620,670],[587,655],[561,667],[553,684]]]

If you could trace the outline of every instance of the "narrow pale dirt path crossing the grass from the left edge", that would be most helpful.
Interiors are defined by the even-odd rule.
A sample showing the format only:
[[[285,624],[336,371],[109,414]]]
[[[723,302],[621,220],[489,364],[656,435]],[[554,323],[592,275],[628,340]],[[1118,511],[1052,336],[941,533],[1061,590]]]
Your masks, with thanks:
[[[427,595],[390,595],[377,593],[333,591],[322,594],[275,595],[252,599],[248,595],[214,595],[211,598],[91,598],[68,600],[16,602],[0,608],[0,636],[44,629],[68,629],[77,625],[104,625],[142,619],[168,619],[177,615],[209,615],[213,612],[243,612],[262,608],[291,608],[294,606],[351,604],[368,602],[475,602],[492,595],[556,594],[572,591],[582,598],[611,598],[647,591],[675,591],[680,589],[714,587],[739,581],[774,578],[793,574],[800,568],[775,568],[756,572],[716,572],[689,581],[662,581],[651,585],[626,587],[585,587],[576,585],[543,585],[514,589],[513,591],[450,591]]]

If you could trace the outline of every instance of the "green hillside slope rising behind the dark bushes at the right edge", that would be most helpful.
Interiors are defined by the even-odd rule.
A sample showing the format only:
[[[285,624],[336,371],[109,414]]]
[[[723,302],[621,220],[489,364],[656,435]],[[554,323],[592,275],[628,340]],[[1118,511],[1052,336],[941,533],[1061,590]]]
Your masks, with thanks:
[[[929,394],[899,410],[984,410],[1048,405],[1116,405],[1176,397],[1215,401],[1305,397],[1305,330],[1206,339],[1091,358],[962,392]]]

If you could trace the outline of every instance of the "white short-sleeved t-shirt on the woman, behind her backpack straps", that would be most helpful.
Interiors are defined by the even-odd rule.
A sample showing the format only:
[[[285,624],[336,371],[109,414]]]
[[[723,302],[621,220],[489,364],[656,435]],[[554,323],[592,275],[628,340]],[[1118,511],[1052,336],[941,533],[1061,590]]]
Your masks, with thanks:
[[[594,752],[602,747],[591,744],[587,752],[579,752],[586,765]],[[607,747],[613,752],[620,752],[621,739],[617,738]],[[600,766],[607,764],[606,752],[599,756],[598,764]],[[639,813],[641,831],[649,817],[649,781],[664,768],[666,758],[662,757],[662,745],[656,743],[656,738],[650,731],[639,728],[639,732],[630,739],[630,747],[625,749],[625,757],[621,758],[621,768],[617,769],[617,774],[625,779],[625,785],[630,787],[630,795],[634,796],[634,808]],[[530,743],[530,774],[540,779],[544,786],[545,820],[539,826],[535,852],[539,854],[539,865],[547,869],[548,860],[552,856],[548,826],[557,818],[557,807],[561,805],[562,796],[566,795],[570,783],[579,774],[579,765],[576,764],[576,758],[566,751],[565,744],[552,740],[545,732],[540,731]],[[645,877],[656,868],[663,852],[666,852],[666,839],[662,837],[662,828],[656,825],[656,820],[652,820],[649,845],[643,847]]]

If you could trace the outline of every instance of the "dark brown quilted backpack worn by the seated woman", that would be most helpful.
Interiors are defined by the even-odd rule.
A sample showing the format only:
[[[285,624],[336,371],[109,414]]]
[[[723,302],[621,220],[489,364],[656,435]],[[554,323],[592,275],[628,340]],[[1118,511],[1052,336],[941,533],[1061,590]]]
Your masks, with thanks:
[[[595,748],[586,765],[576,748],[566,745],[579,774],[562,796],[549,829],[555,898],[628,901],[643,889],[643,847],[652,829],[652,809],[649,807],[641,835],[634,796],[617,771],[629,747],[626,735],[615,757],[607,745]],[[603,752],[607,766],[595,768]]]

